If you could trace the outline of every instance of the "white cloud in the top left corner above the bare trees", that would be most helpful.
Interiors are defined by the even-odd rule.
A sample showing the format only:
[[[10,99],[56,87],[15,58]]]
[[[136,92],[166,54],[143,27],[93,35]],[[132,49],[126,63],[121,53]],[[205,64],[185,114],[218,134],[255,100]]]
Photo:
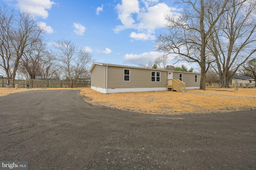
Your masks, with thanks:
[[[13,6],[16,6],[23,12],[29,12],[32,16],[46,19],[48,11],[55,2],[50,0],[8,0]]]

